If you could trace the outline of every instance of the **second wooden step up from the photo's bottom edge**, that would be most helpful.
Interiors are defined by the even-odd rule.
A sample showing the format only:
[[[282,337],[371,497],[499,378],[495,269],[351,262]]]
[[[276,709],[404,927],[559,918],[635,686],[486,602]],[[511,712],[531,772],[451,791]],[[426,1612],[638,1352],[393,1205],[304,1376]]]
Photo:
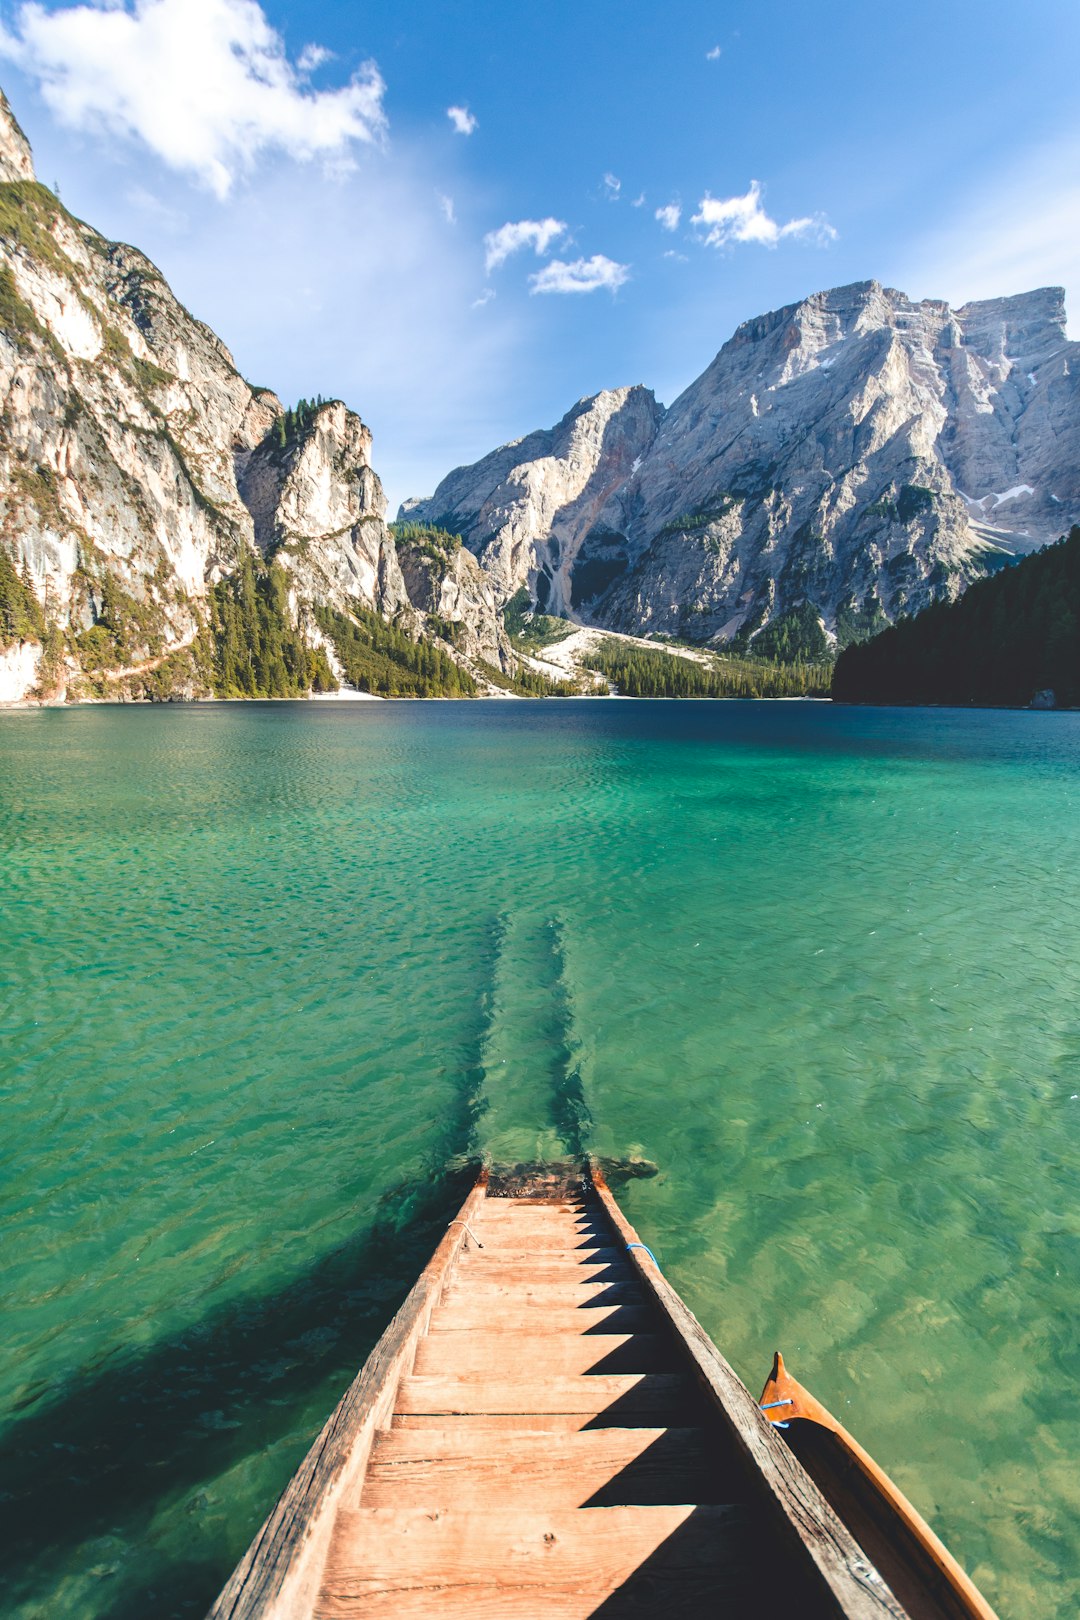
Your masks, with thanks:
[[[583,1508],[725,1502],[701,1429],[389,1429],[376,1437],[359,1507]]]

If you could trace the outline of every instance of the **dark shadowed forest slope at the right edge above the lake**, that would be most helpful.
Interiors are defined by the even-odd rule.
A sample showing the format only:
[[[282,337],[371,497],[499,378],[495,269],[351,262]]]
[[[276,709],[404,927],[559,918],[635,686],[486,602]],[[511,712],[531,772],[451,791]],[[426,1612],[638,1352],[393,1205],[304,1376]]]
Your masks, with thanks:
[[[1046,692],[1057,708],[1080,705],[1080,528],[845,648],[832,677],[840,703],[1020,708]]]

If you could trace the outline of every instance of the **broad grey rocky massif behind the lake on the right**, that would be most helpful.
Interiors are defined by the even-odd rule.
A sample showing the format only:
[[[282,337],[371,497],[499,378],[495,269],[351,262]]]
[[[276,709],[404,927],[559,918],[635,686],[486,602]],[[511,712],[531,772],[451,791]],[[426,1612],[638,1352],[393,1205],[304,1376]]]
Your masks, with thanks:
[[[601,437],[588,486],[606,494],[572,501],[570,525],[549,441],[617,395],[452,473],[419,510],[468,518],[500,591],[528,580],[542,604],[547,569],[551,604],[586,622],[727,642],[810,604],[844,637],[1080,517],[1078,389],[1056,288],[950,309],[861,282],[742,326],[653,407],[633,458]]]

